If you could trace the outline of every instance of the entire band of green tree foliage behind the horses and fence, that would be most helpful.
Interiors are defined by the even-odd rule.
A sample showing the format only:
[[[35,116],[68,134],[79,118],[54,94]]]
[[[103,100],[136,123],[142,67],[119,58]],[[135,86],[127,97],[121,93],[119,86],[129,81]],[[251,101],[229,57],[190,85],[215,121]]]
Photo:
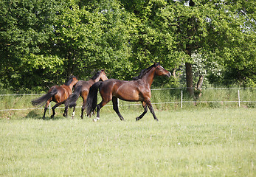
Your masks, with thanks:
[[[2,0],[0,86],[44,91],[98,69],[131,80],[153,62],[173,72],[154,86],[192,88],[201,75],[256,86],[255,8],[254,0]]]

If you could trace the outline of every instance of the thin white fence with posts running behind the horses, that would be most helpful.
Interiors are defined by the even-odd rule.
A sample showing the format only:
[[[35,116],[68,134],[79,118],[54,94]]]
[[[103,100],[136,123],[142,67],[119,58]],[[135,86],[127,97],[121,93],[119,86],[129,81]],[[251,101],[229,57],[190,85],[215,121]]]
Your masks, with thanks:
[[[241,100],[241,90],[243,89],[250,89],[255,90],[256,88],[202,88],[202,92],[204,92],[204,89],[237,89],[237,99],[236,100],[184,100],[184,90],[187,88],[169,88],[169,89],[151,89],[151,91],[166,91],[166,90],[180,90],[180,99],[179,101],[167,101],[167,102],[153,102],[152,105],[159,105],[159,104],[179,104],[180,108],[184,107],[184,103],[238,103],[238,107],[241,107],[241,103],[256,103],[256,94],[253,93],[252,99],[255,100]],[[194,88],[188,88],[188,89],[194,89]],[[0,97],[12,97],[12,96],[37,96],[42,94],[0,94]],[[128,105],[141,105],[141,104],[124,104],[121,103],[120,106],[128,106]],[[105,105],[105,106],[112,106],[112,105]],[[58,107],[63,108],[63,107]],[[2,108],[0,111],[22,111],[22,110],[34,110],[34,109],[44,109],[44,108]],[[49,105],[49,114],[51,111],[51,104]]]

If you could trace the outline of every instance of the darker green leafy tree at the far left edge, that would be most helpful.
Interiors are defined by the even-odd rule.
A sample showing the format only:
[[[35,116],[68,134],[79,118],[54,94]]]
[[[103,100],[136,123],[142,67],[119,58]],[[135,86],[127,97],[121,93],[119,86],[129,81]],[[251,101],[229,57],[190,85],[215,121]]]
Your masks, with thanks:
[[[39,85],[43,73],[55,70],[56,62],[61,64],[47,54],[56,10],[55,1],[0,1],[2,86],[31,89]]]

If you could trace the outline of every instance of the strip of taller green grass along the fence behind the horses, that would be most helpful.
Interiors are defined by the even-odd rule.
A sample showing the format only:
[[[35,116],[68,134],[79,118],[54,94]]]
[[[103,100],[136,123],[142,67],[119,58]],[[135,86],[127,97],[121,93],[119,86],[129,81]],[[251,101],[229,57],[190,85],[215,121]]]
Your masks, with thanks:
[[[0,111],[0,119],[1,118],[12,118],[16,117],[30,117],[31,110],[24,110],[26,108],[35,108],[31,105],[31,100],[41,95],[24,95],[24,96],[3,96],[0,97],[0,110],[9,110],[9,111]],[[99,96],[99,95],[98,95]],[[241,108],[256,108],[256,89],[240,89],[241,96]],[[101,100],[99,96],[99,101]],[[177,110],[181,107],[181,89],[174,90],[153,90],[151,96],[151,103],[156,103],[153,105],[154,109],[167,111],[167,110]],[[187,91],[183,90],[183,101],[192,101],[193,98],[189,97]],[[198,99],[198,103],[196,105],[201,108],[238,108],[238,102],[230,102],[230,101],[238,101],[238,89],[203,89],[201,97]],[[207,103],[205,103],[207,101]],[[211,101],[215,101],[212,103]],[[226,103],[227,101],[228,103]],[[249,102],[243,102],[249,101]],[[176,102],[176,103],[173,103]],[[157,104],[157,103],[167,103],[167,104]],[[120,105],[122,104],[134,104],[130,102],[123,102],[120,100]],[[138,103],[135,103],[138,104]],[[140,104],[140,103],[139,103]],[[51,106],[55,105],[55,103],[51,103]],[[82,99],[79,98],[77,100],[77,106],[82,105]],[[111,105],[111,103],[108,103]],[[60,105],[63,107],[63,105]],[[108,107],[109,110],[112,110],[111,107]],[[121,106],[123,110],[131,110],[138,109],[142,110],[141,105],[132,105],[132,106]],[[195,108],[194,103],[183,103],[183,108],[191,109]],[[10,110],[10,109],[23,109],[23,110]],[[77,108],[77,113],[80,114],[80,108]],[[35,111],[36,114],[40,113],[43,116],[43,109],[38,109]],[[71,111],[69,111],[69,116]],[[63,109],[56,109],[56,113],[58,115],[63,114]]]

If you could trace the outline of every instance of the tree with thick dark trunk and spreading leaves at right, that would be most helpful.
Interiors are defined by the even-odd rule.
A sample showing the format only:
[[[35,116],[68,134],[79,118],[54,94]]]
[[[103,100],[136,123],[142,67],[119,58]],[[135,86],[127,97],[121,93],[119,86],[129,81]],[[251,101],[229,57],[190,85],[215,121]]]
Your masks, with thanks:
[[[238,57],[255,61],[255,13],[248,10],[254,1],[176,1],[162,7],[157,13],[159,24],[168,32],[175,32],[175,43],[179,52],[187,55],[184,58],[186,66],[187,89],[193,96],[192,54],[201,53],[209,60],[218,60],[226,64]],[[243,13],[243,14],[241,14]],[[248,21],[251,21],[248,24]],[[251,27],[249,32],[243,26]],[[251,48],[252,47],[252,48]],[[239,50],[238,50],[239,48]],[[252,52],[250,57],[247,52]],[[212,55],[214,54],[214,55]],[[237,55],[234,55],[237,54]],[[214,56],[215,58],[212,58]],[[245,66],[246,63],[240,63]],[[252,67],[252,68],[255,68]]]

